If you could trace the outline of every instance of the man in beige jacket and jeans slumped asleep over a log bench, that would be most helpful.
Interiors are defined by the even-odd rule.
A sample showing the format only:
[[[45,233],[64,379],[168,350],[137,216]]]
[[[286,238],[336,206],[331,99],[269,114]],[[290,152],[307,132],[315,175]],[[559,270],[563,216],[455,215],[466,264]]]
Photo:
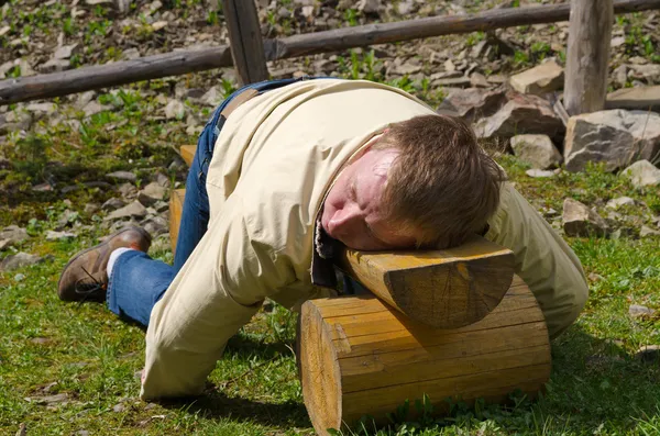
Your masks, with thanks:
[[[107,300],[148,325],[143,399],[200,393],[266,297],[295,310],[336,294],[327,259],[339,243],[449,247],[485,234],[514,250],[554,336],[584,305],[582,267],[502,180],[470,127],[404,91],[260,83],[223,103],[200,136],[174,267],[150,259],[148,235],[132,227],[76,255],[58,293]]]

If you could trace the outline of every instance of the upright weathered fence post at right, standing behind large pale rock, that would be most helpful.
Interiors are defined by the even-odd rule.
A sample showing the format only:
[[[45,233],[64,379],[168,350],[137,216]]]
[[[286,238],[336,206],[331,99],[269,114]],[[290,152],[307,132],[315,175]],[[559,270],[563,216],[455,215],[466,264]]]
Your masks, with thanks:
[[[564,105],[570,115],[605,109],[609,72],[612,0],[572,0]]]

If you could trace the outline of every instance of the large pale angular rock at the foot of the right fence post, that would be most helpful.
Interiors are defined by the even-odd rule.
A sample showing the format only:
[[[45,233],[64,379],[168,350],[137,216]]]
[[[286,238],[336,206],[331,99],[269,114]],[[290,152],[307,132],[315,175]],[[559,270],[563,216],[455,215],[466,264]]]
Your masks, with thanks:
[[[566,126],[564,159],[569,171],[587,161],[603,161],[607,170],[660,153],[660,115],[620,109],[571,116]]]

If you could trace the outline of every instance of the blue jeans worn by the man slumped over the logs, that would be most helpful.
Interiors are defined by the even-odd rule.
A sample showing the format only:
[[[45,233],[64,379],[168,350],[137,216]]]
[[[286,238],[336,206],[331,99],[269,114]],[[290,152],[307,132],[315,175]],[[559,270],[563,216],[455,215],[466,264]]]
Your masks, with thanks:
[[[263,81],[248,85],[242,89],[251,88],[264,92],[298,80],[302,79]],[[186,198],[179,224],[174,265],[169,266],[160,260],[154,260],[145,253],[136,250],[127,251],[119,256],[112,268],[106,295],[108,309],[113,313],[147,326],[153,306],[163,298],[169,283],[172,283],[176,273],[182,269],[206,233],[209,223],[209,198],[206,190],[207,172],[213,155],[216,139],[224,124],[224,118],[220,113],[237,94],[238,92],[231,94],[216,109],[197,141],[197,150],[186,181]]]

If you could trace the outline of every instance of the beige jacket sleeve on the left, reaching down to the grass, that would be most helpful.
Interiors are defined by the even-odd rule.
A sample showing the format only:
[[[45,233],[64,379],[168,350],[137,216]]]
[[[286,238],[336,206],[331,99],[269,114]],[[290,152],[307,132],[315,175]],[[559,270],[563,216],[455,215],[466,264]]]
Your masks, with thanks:
[[[227,340],[294,280],[286,257],[252,243],[241,200],[231,195],[152,311],[140,396],[201,393]]]

